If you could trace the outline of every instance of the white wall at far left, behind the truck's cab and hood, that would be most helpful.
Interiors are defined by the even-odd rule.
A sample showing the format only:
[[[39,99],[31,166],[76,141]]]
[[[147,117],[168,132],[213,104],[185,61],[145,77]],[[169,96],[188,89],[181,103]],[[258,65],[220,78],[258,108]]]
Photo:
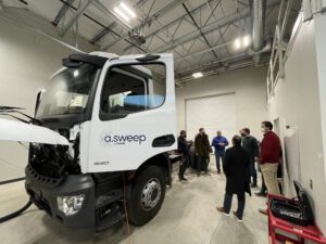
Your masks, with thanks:
[[[62,57],[75,53],[40,34],[0,18],[0,105],[26,107],[33,115],[36,93],[61,66]],[[0,182],[24,176],[27,150],[0,141]]]

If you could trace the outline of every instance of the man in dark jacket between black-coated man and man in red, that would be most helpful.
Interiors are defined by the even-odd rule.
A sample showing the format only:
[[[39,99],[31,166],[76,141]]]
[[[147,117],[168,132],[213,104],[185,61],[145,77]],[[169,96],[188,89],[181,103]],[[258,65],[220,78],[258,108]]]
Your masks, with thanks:
[[[252,177],[251,188],[256,188],[256,170],[254,157],[259,156],[259,147],[256,139],[250,136],[250,129],[243,128],[240,130],[242,137],[242,147],[249,153],[250,156],[250,176]]]

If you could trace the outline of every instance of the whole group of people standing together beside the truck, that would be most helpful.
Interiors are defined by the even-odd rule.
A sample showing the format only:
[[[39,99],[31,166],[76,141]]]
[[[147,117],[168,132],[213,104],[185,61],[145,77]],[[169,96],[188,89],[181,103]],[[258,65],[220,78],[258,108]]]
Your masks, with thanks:
[[[263,121],[261,124],[263,132],[263,140],[259,144],[258,140],[250,136],[250,129],[241,129],[240,136],[236,134],[231,139],[231,146],[228,146],[228,141],[217,131],[216,137],[209,142],[209,137],[204,129],[200,128],[199,133],[195,138],[195,154],[197,157],[197,172],[200,176],[201,170],[205,174],[208,171],[208,163],[211,146],[214,146],[216,170],[221,174],[221,168],[226,176],[226,188],[223,206],[216,209],[226,216],[229,216],[231,208],[233,195],[238,197],[238,208],[233,211],[238,221],[242,221],[246,192],[251,195],[251,188],[256,188],[258,174],[255,163],[262,172],[262,188],[256,195],[264,195],[264,188],[269,194],[280,194],[277,171],[279,169],[279,162],[281,157],[280,140],[276,133],[273,132],[273,124],[271,121]],[[184,177],[189,162],[189,142],[186,140],[187,133],[185,130],[180,132],[178,138],[178,150],[181,155],[181,163],[178,172],[179,180],[187,180]],[[221,164],[222,163],[222,164]],[[265,209],[260,209],[262,214],[266,214]]]

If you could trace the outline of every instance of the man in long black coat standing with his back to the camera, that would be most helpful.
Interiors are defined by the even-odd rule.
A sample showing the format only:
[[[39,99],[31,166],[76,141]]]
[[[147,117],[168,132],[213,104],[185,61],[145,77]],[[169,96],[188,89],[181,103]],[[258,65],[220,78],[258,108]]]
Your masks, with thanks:
[[[249,170],[250,156],[241,147],[241,138],[235,136],[233,138],[233,147],[226,150],[223,171],[226,176],[226,188],[223,207],[216,207],[216,209],[226,216],[229,216],[233,195],[238,196],[238,209],[233,211],[234,216],[238,221],[242,221],[246,196],[244,192],[251,195],[249,187]]]

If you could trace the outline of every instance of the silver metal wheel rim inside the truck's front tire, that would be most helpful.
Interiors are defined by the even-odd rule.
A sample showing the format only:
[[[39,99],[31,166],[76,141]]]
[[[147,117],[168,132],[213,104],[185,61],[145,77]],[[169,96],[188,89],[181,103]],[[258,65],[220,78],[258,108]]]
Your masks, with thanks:
[[[159,179],[150,179],[141,192],[141,207],[145,210],[151,210],[156,206],[161,198],[162,190]]]

